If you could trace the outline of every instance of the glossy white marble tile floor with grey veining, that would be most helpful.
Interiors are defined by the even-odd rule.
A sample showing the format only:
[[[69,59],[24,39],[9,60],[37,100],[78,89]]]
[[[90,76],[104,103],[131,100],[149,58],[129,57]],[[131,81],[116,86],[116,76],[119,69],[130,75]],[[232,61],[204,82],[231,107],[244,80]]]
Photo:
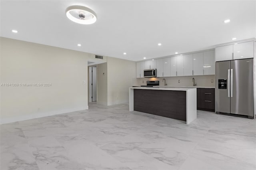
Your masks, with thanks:
[[[256,119],[198,111],[186,125],[90,103],[0,128],[1,170],[256,169]]]

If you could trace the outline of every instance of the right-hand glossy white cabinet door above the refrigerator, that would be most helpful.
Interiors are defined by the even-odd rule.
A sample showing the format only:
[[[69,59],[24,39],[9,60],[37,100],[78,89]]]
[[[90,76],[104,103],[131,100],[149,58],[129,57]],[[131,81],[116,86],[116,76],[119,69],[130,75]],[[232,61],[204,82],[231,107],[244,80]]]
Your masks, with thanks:
[[[234,44],[234,59],[253,58],[253,41]]]

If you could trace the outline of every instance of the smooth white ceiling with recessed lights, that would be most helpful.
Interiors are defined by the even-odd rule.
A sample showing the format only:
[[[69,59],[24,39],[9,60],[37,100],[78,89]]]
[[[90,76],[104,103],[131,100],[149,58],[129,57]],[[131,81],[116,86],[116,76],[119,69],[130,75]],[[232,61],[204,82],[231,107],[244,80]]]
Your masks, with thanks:
[[[1,0],[0,3],[2,37],[132,61],[210,49],[231,42],[234,37],[236,40],[256,37],[256,1]],[[71,5],[91,8],[97,21],[91,25],[70,21],[65,10]],[[226,19],[231,22],[224,24]]]

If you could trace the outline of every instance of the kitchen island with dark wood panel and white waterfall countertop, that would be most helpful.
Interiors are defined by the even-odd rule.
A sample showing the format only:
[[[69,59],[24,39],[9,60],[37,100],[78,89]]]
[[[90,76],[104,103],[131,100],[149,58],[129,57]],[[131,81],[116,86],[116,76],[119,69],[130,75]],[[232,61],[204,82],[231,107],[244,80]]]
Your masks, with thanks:
[[[130,87],[129,111],[191,123],[196,119],[196,88]]]

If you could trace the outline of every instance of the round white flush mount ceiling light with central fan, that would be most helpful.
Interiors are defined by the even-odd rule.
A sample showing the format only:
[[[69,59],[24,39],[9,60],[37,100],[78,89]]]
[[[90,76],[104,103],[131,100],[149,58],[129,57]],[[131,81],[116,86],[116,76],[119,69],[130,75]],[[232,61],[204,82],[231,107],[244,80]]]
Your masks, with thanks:
[[[97,20],[93,10],[79,5],[69,6],[66,15],[68,19],[78,24],[93,24]]]

